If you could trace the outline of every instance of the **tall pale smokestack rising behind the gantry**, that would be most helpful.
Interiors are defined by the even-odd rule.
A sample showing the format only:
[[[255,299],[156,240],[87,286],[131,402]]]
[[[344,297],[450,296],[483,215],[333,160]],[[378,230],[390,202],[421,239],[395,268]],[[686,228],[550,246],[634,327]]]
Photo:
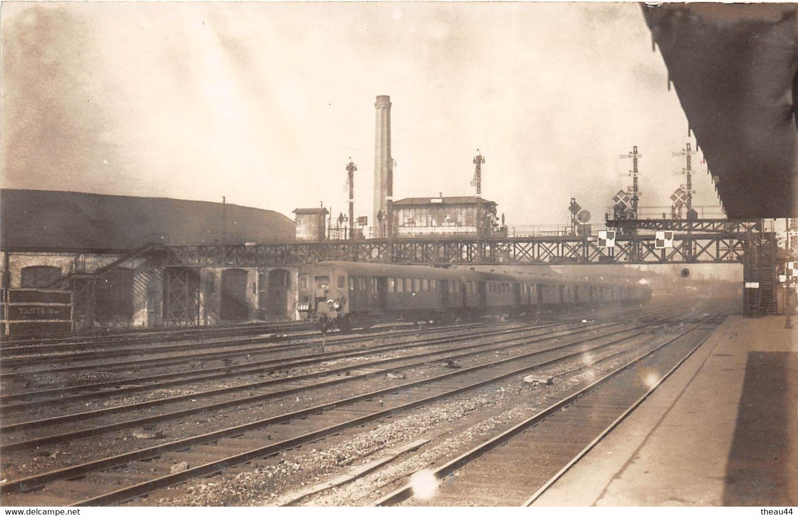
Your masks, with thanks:
[[[393,159],[391,158],[391,97],[380,95],[374,103],[377,109],[374,138],[374,218],[376,236],[389,236],[389,205],[393,202]],[[377,216],[381,213],[381,219]]]

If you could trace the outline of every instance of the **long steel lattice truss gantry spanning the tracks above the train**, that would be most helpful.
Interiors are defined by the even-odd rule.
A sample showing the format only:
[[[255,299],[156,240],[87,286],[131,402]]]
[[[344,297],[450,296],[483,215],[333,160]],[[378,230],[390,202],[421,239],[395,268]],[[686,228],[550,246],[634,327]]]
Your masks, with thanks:
[[[744,233],[676,234],[674,246],[656,249],[654,235],[620,236],[615,246],[595,237],[402,238],[286,244],[167,246],[168,267],[301,266],[327,260],[425,265],[549,265],[741,263]]]

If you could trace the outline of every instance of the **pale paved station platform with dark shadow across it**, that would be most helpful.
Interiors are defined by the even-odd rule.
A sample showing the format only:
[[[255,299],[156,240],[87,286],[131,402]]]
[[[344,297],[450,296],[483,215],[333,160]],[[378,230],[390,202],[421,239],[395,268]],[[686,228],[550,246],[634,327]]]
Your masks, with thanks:
[[[729,317],[533,506],[798,505],[798,325]]]

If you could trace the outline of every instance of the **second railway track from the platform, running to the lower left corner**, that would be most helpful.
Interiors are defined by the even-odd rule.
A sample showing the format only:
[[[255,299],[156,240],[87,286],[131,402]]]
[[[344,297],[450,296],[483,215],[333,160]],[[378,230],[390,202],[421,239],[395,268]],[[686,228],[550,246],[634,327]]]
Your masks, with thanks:
[[[644,332],[638,333],[636,337],[641,337],[642,333]],[[163,486],[184,482],[198,475],[207,475],[219,471],[220,468],[246,463],[302,443],[323,439],[369,421],[434,403],[448,396],[456,396],[547,364],[572,359],[580,353],[611,349],[612,346],[633,339],[626,336],[592,347],[587,344],[595,338],[587,337],[581,341],[577,339],[567,344],[492,360],[423,380],[395,384],[203,435],[192,435],[186,439],[30,475],[4,483],[2,493],[10,503],[19,505],[25,505],[25,492],[31,489],[38,491],[27,496],[57,501],[60,505],[66,505],[66,502],[105,505],[124,501]],[[405,363],[401,367],[408,368],[409,365]],[[380,370],[377,374],[384,371]],[[259,446],[253,448],[255,443]],[[265,443],[268,444],[264,446]],[[164,468],[169,468],[170,464],[180,458],[185,459],[181,462],[190,466],[184,471],[170,470],[164,475]],[[156,472],[160,475],[155,475]],[[82,480],[75,480],[77,477]],[[109,479],[113,479],[113,483]],[[126,485],[120,487],[120,482]]]

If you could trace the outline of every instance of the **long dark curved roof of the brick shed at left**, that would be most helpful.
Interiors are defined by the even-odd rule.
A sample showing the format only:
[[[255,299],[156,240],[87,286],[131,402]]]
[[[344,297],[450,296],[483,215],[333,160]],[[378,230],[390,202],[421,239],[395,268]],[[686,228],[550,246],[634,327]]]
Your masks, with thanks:
[[[294,222],[276,211],[204,201],[0,190],[3,250],[128,250],[148,243],[288,242]]]

